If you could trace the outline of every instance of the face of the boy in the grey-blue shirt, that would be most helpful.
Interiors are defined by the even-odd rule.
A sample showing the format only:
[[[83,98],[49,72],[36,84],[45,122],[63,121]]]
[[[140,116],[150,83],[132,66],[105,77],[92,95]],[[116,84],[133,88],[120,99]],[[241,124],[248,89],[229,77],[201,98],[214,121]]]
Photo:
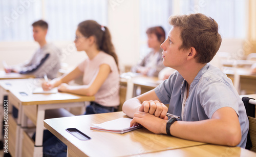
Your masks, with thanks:
[[[182,45],[180,38],[181,29],[173,27],[169,33],[168,38],[161,44],[163,49],[163,64],[173,69],[180,69],[187,60],[188,50],[179,49]]]

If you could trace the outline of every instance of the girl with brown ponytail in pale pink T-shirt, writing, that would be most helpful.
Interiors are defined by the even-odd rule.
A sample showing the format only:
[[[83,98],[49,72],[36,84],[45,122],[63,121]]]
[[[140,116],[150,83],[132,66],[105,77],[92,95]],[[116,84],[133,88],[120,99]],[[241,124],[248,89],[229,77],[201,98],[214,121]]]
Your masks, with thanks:
[[[114,111],[119,105],[119,70],[109,29],[94,20],[83,21],[78,25],[74,43],[77,51],[86,52],[88,58],[69,74],[42,83],[42,88],[47,91],[58,86],[60,92],[95,96],[86,108],[87,115]],[[80,75],[83,85],[66,84]]]

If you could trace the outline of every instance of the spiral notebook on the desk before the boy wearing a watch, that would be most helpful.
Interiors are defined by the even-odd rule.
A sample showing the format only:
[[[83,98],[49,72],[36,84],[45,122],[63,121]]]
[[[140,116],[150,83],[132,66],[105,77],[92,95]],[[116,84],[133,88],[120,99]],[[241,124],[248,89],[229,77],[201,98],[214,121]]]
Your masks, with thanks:
[[[91,129],[113,133],[125,133],[142,127],[141,125],[130,127],[131,121],[131,118],[118,118],[101,124],[94,124],[94,126],[91,126]]]

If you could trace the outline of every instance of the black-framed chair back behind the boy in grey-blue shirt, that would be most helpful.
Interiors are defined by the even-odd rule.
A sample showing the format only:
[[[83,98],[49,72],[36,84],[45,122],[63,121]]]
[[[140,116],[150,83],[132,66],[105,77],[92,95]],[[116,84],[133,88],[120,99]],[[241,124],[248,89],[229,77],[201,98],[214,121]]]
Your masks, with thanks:
[[[249,120],[249,131],[247,135],[246,149],[256,152],[256,118],[255,118],[255,105],[256,100],[248,97],[242,98],[246,109],[246,114]]]

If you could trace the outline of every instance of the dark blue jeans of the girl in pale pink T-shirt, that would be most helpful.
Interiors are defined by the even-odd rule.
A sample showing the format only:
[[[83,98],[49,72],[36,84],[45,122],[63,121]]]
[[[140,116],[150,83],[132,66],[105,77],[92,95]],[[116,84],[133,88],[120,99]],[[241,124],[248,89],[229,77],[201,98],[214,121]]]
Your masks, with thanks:
[[[102,106],[92,101],[91,104],[86,107],[86,113],[84,113],[84,115],[112,113],[114,111],[116,111],[115,107]]]

